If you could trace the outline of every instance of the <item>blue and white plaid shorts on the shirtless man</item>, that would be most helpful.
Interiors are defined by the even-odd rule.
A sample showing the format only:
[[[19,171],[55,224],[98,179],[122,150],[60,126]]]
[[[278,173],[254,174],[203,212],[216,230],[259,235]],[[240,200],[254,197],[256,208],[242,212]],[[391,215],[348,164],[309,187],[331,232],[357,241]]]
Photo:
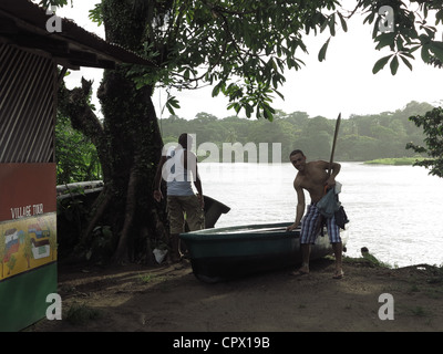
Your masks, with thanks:
[[[316,202],[308,206],[307,214],[301,220],[301,232],[300,232],[300,243],[316,243],[317,237],[320,233],[320,228],[318,228],[318,220],[320,218],[320,211],[316,206]],[[336,217],[326,219],[329,241],[331,243],[341,242],[340,228],[336,223]]]

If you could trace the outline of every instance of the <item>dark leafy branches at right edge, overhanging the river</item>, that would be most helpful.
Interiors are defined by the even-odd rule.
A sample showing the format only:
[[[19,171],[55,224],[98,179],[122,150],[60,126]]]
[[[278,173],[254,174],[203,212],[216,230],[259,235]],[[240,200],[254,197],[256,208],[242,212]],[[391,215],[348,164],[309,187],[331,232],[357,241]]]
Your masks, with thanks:
[[[425,146],[409,143],[408,149],[419,154],[426,154],[429,158],[419,160],[414,166],[423,166],[430,169],[431,175],[443,177],[443,108],[436,107],[423,115],[411,116],[410,121],[416,126],[423,127]]]

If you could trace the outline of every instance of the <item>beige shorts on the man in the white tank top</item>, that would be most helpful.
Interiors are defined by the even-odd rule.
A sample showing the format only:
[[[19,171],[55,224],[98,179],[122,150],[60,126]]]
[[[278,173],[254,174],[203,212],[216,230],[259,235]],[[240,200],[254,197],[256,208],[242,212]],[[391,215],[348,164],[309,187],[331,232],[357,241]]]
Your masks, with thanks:
[[[190,231],[205,228],[205,215],[197,196],[167,196],[166,200],[171,233],[185,232],[185,214]]]

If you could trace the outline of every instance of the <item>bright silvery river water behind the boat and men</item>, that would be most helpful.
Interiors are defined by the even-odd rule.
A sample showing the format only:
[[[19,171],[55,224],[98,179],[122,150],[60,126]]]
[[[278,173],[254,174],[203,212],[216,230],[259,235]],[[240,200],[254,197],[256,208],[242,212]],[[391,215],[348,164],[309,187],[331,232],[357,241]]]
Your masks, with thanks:
[[[359,257],[367,247],[392,267],[443,263],[443,178],[423,167],[341,165],[339,196],[351,221],[347,256]],[[291,164],[198,167],[204,194],[230,207],[216,227],[293,222],[297,170]]]

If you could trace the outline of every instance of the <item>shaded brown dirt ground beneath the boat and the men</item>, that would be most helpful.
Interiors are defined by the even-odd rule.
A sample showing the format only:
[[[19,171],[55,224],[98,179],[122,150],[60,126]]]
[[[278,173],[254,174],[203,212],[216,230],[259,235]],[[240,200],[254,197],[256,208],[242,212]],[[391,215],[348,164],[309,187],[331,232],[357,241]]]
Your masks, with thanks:
[[[321,259],[308,275],[284,269],[209,284],[194,277],[187,261],[183,269],[59,266],[62,320],[42,320],[25,331],[443,331],[442,269],[354,260],[343,270],[344,278],[334,280],[333,260]],[[387,293],[391,300],[379,299]]]

